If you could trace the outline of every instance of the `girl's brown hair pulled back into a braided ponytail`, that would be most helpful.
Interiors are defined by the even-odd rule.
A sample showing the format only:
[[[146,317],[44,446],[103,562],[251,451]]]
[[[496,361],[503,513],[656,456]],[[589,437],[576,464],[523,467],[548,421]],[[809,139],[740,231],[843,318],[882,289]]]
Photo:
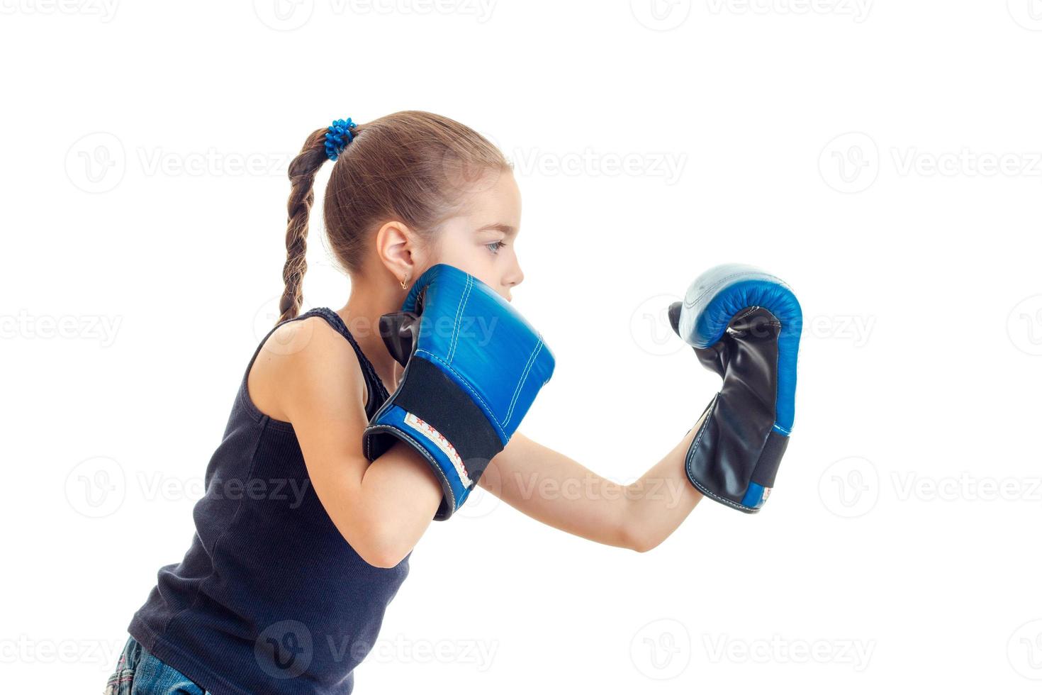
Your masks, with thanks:
[[[353,139],[333,164],[323,204],[326,238],[348,274],[359,273],[369,237],[399,220],[427,242],[464,204],[470,184],[510,169],[499,149],[452,119],[427,111],[390,114],[351,128]],[[326,162],[326,128],[304,142],[290,163],[293,190],[287,204],[286,291],[278,322],[296,318],[303,300],[307,218],[315,202],[315,174]]]

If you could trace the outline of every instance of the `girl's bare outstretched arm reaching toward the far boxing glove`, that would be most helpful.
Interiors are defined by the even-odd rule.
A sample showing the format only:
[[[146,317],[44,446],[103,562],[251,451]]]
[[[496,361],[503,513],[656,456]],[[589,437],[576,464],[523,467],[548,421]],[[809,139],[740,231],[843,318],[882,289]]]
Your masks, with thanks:
[[[629,485],[601,477],[517,431],[489,463],[478,485],[554,528],[645,552],[666,540],[702,498],[684,469],[700,425],[701,419],[672,451]]]

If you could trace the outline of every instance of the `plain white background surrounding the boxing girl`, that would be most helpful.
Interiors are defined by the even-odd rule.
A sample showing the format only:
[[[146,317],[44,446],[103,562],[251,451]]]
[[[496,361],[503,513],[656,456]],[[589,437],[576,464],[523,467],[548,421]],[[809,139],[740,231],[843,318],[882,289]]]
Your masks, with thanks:
[[[796,421],[760,515],[645,554],[475,496],[356,692],[1038,692],[1042,3],[275,1],[0,2],[4,690],[101,691],[274,318],[288,157],[419,108],[515,160],[529,437],[668,452],[719,380],[663,311],[725,262],[801,301]]]

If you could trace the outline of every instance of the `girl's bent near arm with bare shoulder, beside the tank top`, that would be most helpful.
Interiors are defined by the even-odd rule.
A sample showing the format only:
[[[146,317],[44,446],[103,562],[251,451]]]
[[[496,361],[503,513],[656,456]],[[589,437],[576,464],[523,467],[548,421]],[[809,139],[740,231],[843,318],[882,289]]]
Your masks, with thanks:
[[[269,415],[293,423],[315,494],[341,535],[370,565],[400,563],[430,525],[442,488],[405,444],[372,463],[363,455],[366,384],[351,346],[321,317],[290,322],[253,371],[263,378],[250,393],[269,395]]]

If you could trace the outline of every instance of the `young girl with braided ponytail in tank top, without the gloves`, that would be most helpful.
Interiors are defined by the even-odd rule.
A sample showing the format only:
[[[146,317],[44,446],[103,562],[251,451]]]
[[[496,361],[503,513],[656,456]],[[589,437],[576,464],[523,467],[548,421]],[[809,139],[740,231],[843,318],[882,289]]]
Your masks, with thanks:
[[[326,233],[351,294],[339,311],[298,316],[313,182],[326,159]],[[134,614],[107,694],[350,693],[443,495],[402,442],[371,463],[363,454],[363,430],[403,371],[379,317],[399,311],[411,280],[435,264],[506,300],[524,278],[511,164],[451,119],[338,121],[308,136],[289,173],[281,315],[206,468],[193,543]],[[684,470],[697,429],[628,486],[516,431],[478,485],[545,524],[644,552],[701,499]],[[534,479],[594,486],[540,496]]]

